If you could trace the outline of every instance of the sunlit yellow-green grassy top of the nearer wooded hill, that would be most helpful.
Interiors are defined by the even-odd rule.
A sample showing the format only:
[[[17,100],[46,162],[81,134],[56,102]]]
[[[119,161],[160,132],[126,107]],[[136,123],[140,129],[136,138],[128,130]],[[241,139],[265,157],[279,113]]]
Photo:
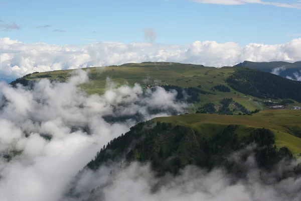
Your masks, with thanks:
[[[226,125],[240,125],[239,137],[249,134],[248,128],[268,128],[276,137],[276,146],[286,146],[294,154],[301,153],[301,138],[290,135],[293,128],[301,130],[301,111],[273,110],[261,111],[253,116],[226,116],[215,114],[189,114],[173,117],[156,118],[156,121],[193,127],[204,136],[210,138],[222,131]]]

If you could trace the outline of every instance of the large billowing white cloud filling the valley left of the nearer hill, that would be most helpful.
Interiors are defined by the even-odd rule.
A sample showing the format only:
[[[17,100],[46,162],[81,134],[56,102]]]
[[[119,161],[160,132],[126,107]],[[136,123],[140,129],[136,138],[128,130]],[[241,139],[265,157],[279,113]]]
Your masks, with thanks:
[[[188,107],[174,92],[143,91],[139,84],[108,83],[103,95],[87,95],[78,86],[87,81],[78,69],[67,82],[42,79],[31,89],[0,83],[0,200],[58,200],[99,147],[136,123],[105,116],[138,114],[145,121]]]

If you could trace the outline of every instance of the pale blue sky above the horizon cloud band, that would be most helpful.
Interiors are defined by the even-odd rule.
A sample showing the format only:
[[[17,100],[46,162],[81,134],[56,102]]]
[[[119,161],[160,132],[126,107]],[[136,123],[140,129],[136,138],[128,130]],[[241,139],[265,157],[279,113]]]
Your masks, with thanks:
[[[183,45],[196,40],[233,41],[240,45],[280,44],[301,37],[299,9],[248,3],[221,5],[237,4],[239,0],[214,0],[210,2],[215,4],[204,4],[206,2],[1,0],[0,38],[48,44],[84,44],[92,40],[132,43],[144,41],[143,28],[154,29],[155,42],[163,44]],[[20,26],[20,29],[4,30],[7,25]],[[36,28],[39,26],[45,28]]]

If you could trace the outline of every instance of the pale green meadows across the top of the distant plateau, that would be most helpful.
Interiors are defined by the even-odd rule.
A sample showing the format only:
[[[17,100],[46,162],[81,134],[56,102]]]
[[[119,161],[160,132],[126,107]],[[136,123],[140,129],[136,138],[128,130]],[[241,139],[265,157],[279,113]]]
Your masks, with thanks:
[[[92,77],[89,83],[83,84],[82,89],[87,93],[103,93],[105,91],[106,78],[110,77],[112,81],[119,84],[134,83],[152,84],[155,81],[158,84],[173,84],[182,87],[202,86],[202,90],[210,91],[217,84],[224,84],[225,79],[234,71],[233,67],[206,67],[202,65],[180,64],[169,62],[145,62],[141,64],[130,63],[121,66],[93,67],[85,68]],[[40,78],[32,78],[37,75],[50,74],[51,80],[64,80],[70,76],[71,70],[59,70],[52,72],[35,73],[27,77],[29,80],[38,80]],[[58,77],[60,76],[60,77]],[[213,82],[213,83],[212,83]],[[211,91],[212,92],[212,91]],[[234,94],[236,92],[236,94]],[[218,103],[224,97],[232,97],[236,102],[242,104],[249,110],[264,109],[261,104],[253,101],[252,96],[245,95],[231,88],[231,92],[215,91],[216,95],[200,95],[201,102],[196,104],[196,108],[208,102]],[[247,101],[248,100],[248,101]]]

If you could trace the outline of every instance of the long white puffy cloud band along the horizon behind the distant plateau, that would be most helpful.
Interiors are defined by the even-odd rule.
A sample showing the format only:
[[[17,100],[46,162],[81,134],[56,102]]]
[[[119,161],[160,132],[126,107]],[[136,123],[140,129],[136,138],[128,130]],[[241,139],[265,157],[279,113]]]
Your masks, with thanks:
[[[249,61],[299,61],[301,38],[284,44],[264,45],[195,41],[188,45],[97,42],[89,45],[27,44],[0,39],[0,77],[17,78],[35,71],[120,65],[129,62],[168,61],[232,66]]]

